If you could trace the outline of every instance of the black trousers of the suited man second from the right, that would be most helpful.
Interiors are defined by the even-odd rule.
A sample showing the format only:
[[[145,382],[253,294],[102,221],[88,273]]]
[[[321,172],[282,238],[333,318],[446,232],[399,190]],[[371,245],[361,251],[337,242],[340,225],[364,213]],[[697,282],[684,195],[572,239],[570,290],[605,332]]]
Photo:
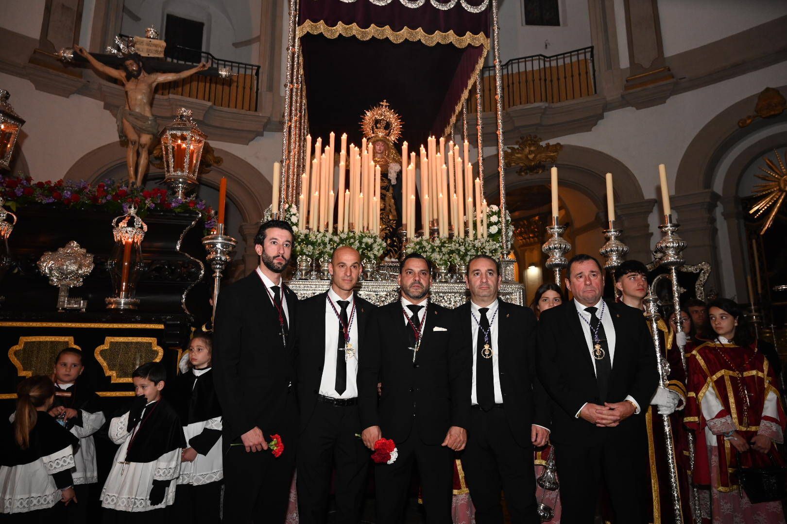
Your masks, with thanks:
[[[527,435],[530,442],[530,434]],[[478,524],[502,524],[500,494],[512,524],[538,524],[533,446],[516,443],[504,409],[473,409],[467,446],[462,453],[464,479]]]

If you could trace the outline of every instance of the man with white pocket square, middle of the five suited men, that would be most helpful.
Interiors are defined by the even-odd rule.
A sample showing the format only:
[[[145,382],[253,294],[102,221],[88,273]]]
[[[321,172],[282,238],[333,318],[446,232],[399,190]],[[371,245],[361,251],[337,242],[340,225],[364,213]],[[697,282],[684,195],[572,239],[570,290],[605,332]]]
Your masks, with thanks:
[[[471,354],[453,310],[428,300],[431,264],[417,253],[401,264],[401,297],[369,318],[359,361],[364,444],[396,443],[393,464],[375,466],[377,522],[401,522],[418,465],[427,522],[451,522],[453,452],[464,449],[470,418]],[[377,398],[377,383],[382,394]]]

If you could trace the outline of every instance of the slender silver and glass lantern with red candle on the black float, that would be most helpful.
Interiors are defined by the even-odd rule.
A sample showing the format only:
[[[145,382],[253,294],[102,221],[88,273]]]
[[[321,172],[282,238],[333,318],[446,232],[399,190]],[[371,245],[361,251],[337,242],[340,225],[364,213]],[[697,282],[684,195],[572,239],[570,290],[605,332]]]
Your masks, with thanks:
[[[113,218],[112,227],[115,245],[109,254],[107,269],[114,295],[106,299],[106,309],[135,310],[139,306],[139,299],[135,299],[137,282],[145,268],[142,239],[145,238],[147,224],[137,216],[136,207],[131,206],[127,214]]]

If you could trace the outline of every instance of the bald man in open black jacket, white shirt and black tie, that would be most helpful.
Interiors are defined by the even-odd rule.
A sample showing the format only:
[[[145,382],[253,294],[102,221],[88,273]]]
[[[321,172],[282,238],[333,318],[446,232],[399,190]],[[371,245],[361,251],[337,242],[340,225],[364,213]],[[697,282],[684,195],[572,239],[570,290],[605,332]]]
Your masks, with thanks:
[[[331,288],[298,304],[298,398],[301,434],[297,452],[297,504],[301,524],[325,522],[331,471],[336,471],[337,524],[360,521],[369,452],[355,435],[356,382],[364,358],[364,329],[375,306],[353,293],[363,267],[352,247],[338,247],[328,271]]]

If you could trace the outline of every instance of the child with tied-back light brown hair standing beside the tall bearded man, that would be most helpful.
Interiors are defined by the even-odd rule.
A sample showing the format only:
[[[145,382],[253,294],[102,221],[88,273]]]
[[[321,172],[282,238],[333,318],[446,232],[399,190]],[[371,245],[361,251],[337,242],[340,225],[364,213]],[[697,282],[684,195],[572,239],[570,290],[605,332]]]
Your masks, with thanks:
[[[183,522],[219,522],[221,406],[213,387],[211,336],[197,332],[189,344],[190,369],[176,380],[176,409],[187,447],[180,455],[175,510]]]

